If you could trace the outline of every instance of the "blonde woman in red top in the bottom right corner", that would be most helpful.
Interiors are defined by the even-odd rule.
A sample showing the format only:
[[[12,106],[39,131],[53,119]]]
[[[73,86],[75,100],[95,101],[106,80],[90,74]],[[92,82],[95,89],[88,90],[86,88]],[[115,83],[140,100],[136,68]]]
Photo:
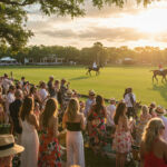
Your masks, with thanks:
[[[159,118],[148,121],[140,146],[141,167],[167,167],[167,143],[163,139],[164,122]]]

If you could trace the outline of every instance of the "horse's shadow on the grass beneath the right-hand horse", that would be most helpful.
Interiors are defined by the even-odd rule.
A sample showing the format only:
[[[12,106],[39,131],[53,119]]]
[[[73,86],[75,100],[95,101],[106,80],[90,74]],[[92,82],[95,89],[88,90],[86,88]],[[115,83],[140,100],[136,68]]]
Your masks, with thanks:
[[[163,86],[153,84],[153,90],[158,91],[160,96],[167,100],[167,84],[164,84]]]

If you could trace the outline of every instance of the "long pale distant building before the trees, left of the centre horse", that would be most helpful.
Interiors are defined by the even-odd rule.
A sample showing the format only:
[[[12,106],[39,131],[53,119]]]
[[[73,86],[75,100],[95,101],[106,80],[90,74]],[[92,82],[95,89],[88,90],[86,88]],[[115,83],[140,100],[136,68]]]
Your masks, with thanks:
[[[33,58],[24,58],[24,65],[62,65],[63,58],[58,58],[57,56],[42,57],[37,61]]]

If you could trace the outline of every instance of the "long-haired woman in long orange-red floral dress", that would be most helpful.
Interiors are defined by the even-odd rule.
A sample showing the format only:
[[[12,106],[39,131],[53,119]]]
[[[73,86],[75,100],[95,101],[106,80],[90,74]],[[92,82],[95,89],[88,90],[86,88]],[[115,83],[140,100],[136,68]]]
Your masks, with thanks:
[[[55,98],[47,100],[40,116],[39,167],[61,167],[60,146],[58,143],[58,102]]]

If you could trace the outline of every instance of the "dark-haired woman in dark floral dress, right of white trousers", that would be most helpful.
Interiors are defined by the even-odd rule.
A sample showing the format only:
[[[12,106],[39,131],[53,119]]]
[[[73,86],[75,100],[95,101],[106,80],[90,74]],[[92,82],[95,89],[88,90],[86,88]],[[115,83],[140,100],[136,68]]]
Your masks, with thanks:
[[[94,105],[88,114],[88,120],[91,122],[89,129],[90,146],[97,153],[102,146],[106,145],[106,126],[105,118],[107,117],[104,98],[96,97],[96,105]]]

